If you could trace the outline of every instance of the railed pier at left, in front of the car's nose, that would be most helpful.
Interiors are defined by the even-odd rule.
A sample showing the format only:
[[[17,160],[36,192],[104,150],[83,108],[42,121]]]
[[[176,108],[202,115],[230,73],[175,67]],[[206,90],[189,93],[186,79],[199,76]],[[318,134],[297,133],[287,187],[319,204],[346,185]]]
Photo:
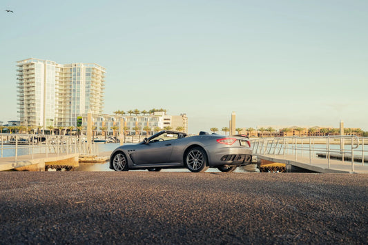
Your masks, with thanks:
[[[42,140],[41,140],[42,139]],[[72,170],[80,161],[101,162],[97,144],[68,135],[0,134],[0,171]]]

